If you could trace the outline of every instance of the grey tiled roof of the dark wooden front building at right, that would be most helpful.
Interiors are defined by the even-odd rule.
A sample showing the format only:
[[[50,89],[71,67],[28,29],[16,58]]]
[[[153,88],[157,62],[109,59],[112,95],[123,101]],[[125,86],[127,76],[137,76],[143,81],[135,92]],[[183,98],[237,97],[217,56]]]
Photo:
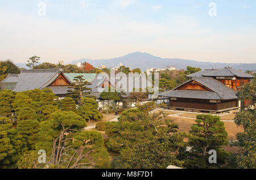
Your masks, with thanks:
[[[211,91],[196,91],[196,90],[179,90],[184,84],[195,81],[200,83],[210,89]],[[185,82],[172,91],[168,91],[166,93],[162,93],[159,96],[164,97],[180,97],[180,98],[198,98],[198,99],[207,99],[207,100],[232,100],[236,99],[236,91],[226,87],[226,85],[222,84],[218,80],[213,78],[193,78],[188,82]]]

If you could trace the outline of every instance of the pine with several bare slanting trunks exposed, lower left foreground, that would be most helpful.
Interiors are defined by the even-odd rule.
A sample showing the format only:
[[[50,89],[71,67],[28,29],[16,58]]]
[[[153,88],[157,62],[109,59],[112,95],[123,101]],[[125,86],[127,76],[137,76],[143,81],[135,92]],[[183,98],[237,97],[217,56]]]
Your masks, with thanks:
[[[74,112],[53,112],[49,121],[40,123],[40,140],[36,144],[36,149],[44,149],[51,157],[52,165],[60,165],[63,146],[69,140],[68,135],[82,130],[85,126],[84,119]]]

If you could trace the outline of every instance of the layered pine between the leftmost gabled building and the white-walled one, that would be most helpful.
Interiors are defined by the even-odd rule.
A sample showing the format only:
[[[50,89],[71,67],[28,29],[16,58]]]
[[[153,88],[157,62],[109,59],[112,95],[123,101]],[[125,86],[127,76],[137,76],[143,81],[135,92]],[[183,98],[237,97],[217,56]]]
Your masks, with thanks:
[[[86,82],[85,79],[82,78],[82,76],[76,76],[74,78],[75,83],[71,83],[69,90],[68,90],[68,95],[73,98],[76,102],[79,104],[82,103],[82,97],[89,95],[90,89],[87,86],[90,85],[91,83]]]

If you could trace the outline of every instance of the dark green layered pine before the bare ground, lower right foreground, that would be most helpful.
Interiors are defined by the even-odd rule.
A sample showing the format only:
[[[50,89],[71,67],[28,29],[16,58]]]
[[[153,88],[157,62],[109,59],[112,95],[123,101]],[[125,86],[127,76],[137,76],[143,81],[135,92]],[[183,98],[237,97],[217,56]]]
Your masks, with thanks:
[[[197,115],[196,124],[189,131],[187,146],[191,147],[191,151],[183,149],[185,153],[181,152],[179,156],[185,161],[186,168],[221,168],[231,157],[230,153],[221,149],[228,144],[227,139],[228,133],[220,117],[211,114]],[[210,164],[208,161],[208,152],[212,149],[217,152],[217,164]]]

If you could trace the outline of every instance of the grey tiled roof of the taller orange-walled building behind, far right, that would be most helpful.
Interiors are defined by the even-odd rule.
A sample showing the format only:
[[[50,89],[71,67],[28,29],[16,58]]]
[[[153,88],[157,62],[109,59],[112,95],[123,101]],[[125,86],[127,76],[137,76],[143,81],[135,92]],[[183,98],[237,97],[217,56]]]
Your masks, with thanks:
[[[225,67],[218,70],[203,70],[194,74],[188,75],[188,77],[216,77],[216,76],[236,76],[238,78],[254,78],[253,75],[246,74],[245,72],[238,71],[232,67]]]

